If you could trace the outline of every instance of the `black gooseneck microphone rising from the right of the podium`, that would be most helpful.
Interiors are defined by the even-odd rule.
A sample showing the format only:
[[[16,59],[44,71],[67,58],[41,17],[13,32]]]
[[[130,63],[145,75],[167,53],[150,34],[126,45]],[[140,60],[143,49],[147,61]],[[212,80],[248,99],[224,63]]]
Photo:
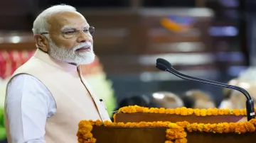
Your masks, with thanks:
[[[194,81],[194,82],[199,82],[199,83],[203,83],[203,84],[209,84],[209,85],[213,85],[213,86],[230,88],[230,89],[234,89],[236,91],[240,91],[246,98],[247,120],[249,121],[249,120],[255,118],[254,102],[253,102],[250,94],[244,88],[240,88],[238,86],[231,86],[228,84],[223,84],[223,83],[220,83],[217,81],[211,81],[208,79],[201,79],[201,78],[197,78],[197,77],[193,77],[193,76],[188,76],[186,74],[181,74],[180,72],[176,71],[176,69],[174,69],[171,66],[170,62],[166,61],[165,59],[161,59],[161,58],[156,59],[156,68],[158,68],[162,71],[168,71],[171,74],[174,74],[174,75],[178,76],[179,78],[186,79],[188,81]]]

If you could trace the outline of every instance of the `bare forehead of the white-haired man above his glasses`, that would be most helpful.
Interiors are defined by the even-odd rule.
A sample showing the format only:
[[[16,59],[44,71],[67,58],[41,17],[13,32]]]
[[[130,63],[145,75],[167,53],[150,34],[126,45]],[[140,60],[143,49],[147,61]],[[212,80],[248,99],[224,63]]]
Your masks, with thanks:
[[[61,30],[62,28],[84,28],[88,26],[85,17],[78,12],[56,13],[48,18],[49,31]]]

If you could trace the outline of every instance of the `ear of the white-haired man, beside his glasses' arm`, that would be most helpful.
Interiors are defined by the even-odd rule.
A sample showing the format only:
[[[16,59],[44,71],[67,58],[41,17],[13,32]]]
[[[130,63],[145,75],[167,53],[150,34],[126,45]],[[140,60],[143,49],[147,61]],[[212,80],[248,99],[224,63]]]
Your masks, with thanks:
[[[36,34],[33,37],[36,42],[36,47],[40,48],[44,52],[48,52],[48,39],[45,36],[39,34]]]

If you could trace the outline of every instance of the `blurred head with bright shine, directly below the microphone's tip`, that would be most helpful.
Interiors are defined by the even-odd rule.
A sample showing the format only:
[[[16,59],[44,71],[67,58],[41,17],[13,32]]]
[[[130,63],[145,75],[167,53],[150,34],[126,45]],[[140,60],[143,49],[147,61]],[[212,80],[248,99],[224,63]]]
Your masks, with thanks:
[[[152,94],[152,98],[159,108],[180,108],[183,106],[181,98],[171,92],[156,92]]]

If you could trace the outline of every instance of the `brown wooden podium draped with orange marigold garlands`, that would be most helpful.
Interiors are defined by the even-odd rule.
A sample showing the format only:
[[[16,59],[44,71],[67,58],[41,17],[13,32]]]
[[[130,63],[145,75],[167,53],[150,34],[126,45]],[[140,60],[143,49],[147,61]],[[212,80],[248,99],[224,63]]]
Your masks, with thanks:
[[[132,108],[132,112],[124,110],[127,108]],[[193,110],[190,115],[176,115],[176,110],[174,114],[166,114],[167,109],[159,109],[161,113],[157,113],[154,108],[156,113],[139,113],[151,112],[144,109],[139,106],[121,108],[115,116],[116,122],[82,120],[79,143],[239,143],[256,139],[256,119],[238,122],[245,117],[245,110],[226,110],[225,115],[216,115],[215,111],[222,114],[218,109],[212,110],[214,115],[207,113],[210,110]],[[129,113],[123,113],[125,111]]]

